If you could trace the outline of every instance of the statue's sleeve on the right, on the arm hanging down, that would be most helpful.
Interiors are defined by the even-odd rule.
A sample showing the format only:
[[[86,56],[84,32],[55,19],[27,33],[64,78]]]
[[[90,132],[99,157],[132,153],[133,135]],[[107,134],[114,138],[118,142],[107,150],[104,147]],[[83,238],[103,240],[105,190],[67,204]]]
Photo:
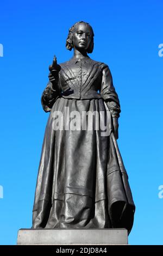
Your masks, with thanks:
[[[112,83],[112,76],[109,67],[105,65],[102,71],[101,96],[111,112],[112,117],[120,117],[120,101]]]

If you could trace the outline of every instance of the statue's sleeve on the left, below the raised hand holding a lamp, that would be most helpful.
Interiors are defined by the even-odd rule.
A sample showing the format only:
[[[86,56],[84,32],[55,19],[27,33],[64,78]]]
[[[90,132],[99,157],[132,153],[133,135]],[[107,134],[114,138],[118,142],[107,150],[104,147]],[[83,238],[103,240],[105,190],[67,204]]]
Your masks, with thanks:
[[[51,111],[55,100],[57,100],[59,97],[59,90],[57,85],[55,87],[55,89],[52,88],[52,83],[49,81],[42,93],[41,104],[45,112]]]

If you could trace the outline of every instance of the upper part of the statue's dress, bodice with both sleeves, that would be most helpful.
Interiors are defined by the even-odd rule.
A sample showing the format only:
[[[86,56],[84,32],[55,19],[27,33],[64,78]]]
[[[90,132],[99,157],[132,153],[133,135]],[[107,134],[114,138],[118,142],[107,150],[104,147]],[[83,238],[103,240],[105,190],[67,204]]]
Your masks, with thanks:
[[[71,58],[60,64],[57,83],[49,81],[41,102],[43,109],[51,111],[58,97],[67,99],[103,99],[108,105],[112,117],[119,117],[120,102],[108,65],[97,62],[89,57]]]

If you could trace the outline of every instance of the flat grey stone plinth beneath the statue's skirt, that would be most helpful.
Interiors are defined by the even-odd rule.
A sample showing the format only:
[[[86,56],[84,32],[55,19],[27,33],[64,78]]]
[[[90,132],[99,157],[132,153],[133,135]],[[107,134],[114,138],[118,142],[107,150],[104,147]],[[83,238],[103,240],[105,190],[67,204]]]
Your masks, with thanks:
[[[127,229],[20,229],[17,245],[128,245]]]

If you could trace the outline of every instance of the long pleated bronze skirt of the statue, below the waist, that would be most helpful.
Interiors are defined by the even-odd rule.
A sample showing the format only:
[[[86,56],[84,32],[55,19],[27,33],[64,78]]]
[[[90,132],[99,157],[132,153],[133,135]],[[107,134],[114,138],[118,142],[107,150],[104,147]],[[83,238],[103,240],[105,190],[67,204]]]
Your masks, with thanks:
[[[42,145],[33,228],[130,232],[135,205],[111,122],[103,99],[55,101]]]

